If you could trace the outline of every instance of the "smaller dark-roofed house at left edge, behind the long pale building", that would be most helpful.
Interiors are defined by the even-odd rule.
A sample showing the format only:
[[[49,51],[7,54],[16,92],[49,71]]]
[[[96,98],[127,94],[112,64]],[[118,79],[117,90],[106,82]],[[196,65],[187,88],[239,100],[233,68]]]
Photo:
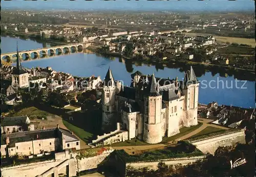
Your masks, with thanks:
[[[21,117],[1,117],[1,133],[10,134],[17,131],[34,130],[34,125],[30,124],[27,116]]]

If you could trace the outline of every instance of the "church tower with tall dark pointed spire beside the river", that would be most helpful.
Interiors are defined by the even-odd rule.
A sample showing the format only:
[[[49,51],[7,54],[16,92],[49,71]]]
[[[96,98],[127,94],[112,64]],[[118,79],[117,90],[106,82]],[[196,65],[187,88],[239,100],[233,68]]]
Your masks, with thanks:
[[[17,42],[17,60],[16,68],[12,73],[12,85],[18,88],[24,88],[29,86],[29,74],[22,68],[18,54],[18,42]]]

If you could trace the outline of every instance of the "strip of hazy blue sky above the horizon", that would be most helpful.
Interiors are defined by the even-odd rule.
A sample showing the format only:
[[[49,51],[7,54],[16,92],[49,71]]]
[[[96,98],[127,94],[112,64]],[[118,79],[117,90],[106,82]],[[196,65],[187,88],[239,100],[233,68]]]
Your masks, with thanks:
[[[254,11],[252,0],[170,0],[170,1],[69,1],[69,0],[48,0],[48,1],[1,1],[2,9],[22,10],[134,10],[134,11]]]

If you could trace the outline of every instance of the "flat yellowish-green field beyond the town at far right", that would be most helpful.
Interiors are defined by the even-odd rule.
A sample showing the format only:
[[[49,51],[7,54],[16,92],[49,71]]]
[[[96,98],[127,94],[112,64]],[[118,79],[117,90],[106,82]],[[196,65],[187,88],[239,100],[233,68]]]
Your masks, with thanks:
[[[189,37],[195,37],[197,35],[212,35],[212,34],[203,34],[203,33],[185,33]],[[240,37],[225,37],[225,36],[216,36],[212,35],[216,38],[217,42],[219,43],[225,43],[225,42],[230,42],[230,43],[244,43],[246,45],[251,45],[251,47],[255,47],[255,39],[251,38],[240,38]]]

